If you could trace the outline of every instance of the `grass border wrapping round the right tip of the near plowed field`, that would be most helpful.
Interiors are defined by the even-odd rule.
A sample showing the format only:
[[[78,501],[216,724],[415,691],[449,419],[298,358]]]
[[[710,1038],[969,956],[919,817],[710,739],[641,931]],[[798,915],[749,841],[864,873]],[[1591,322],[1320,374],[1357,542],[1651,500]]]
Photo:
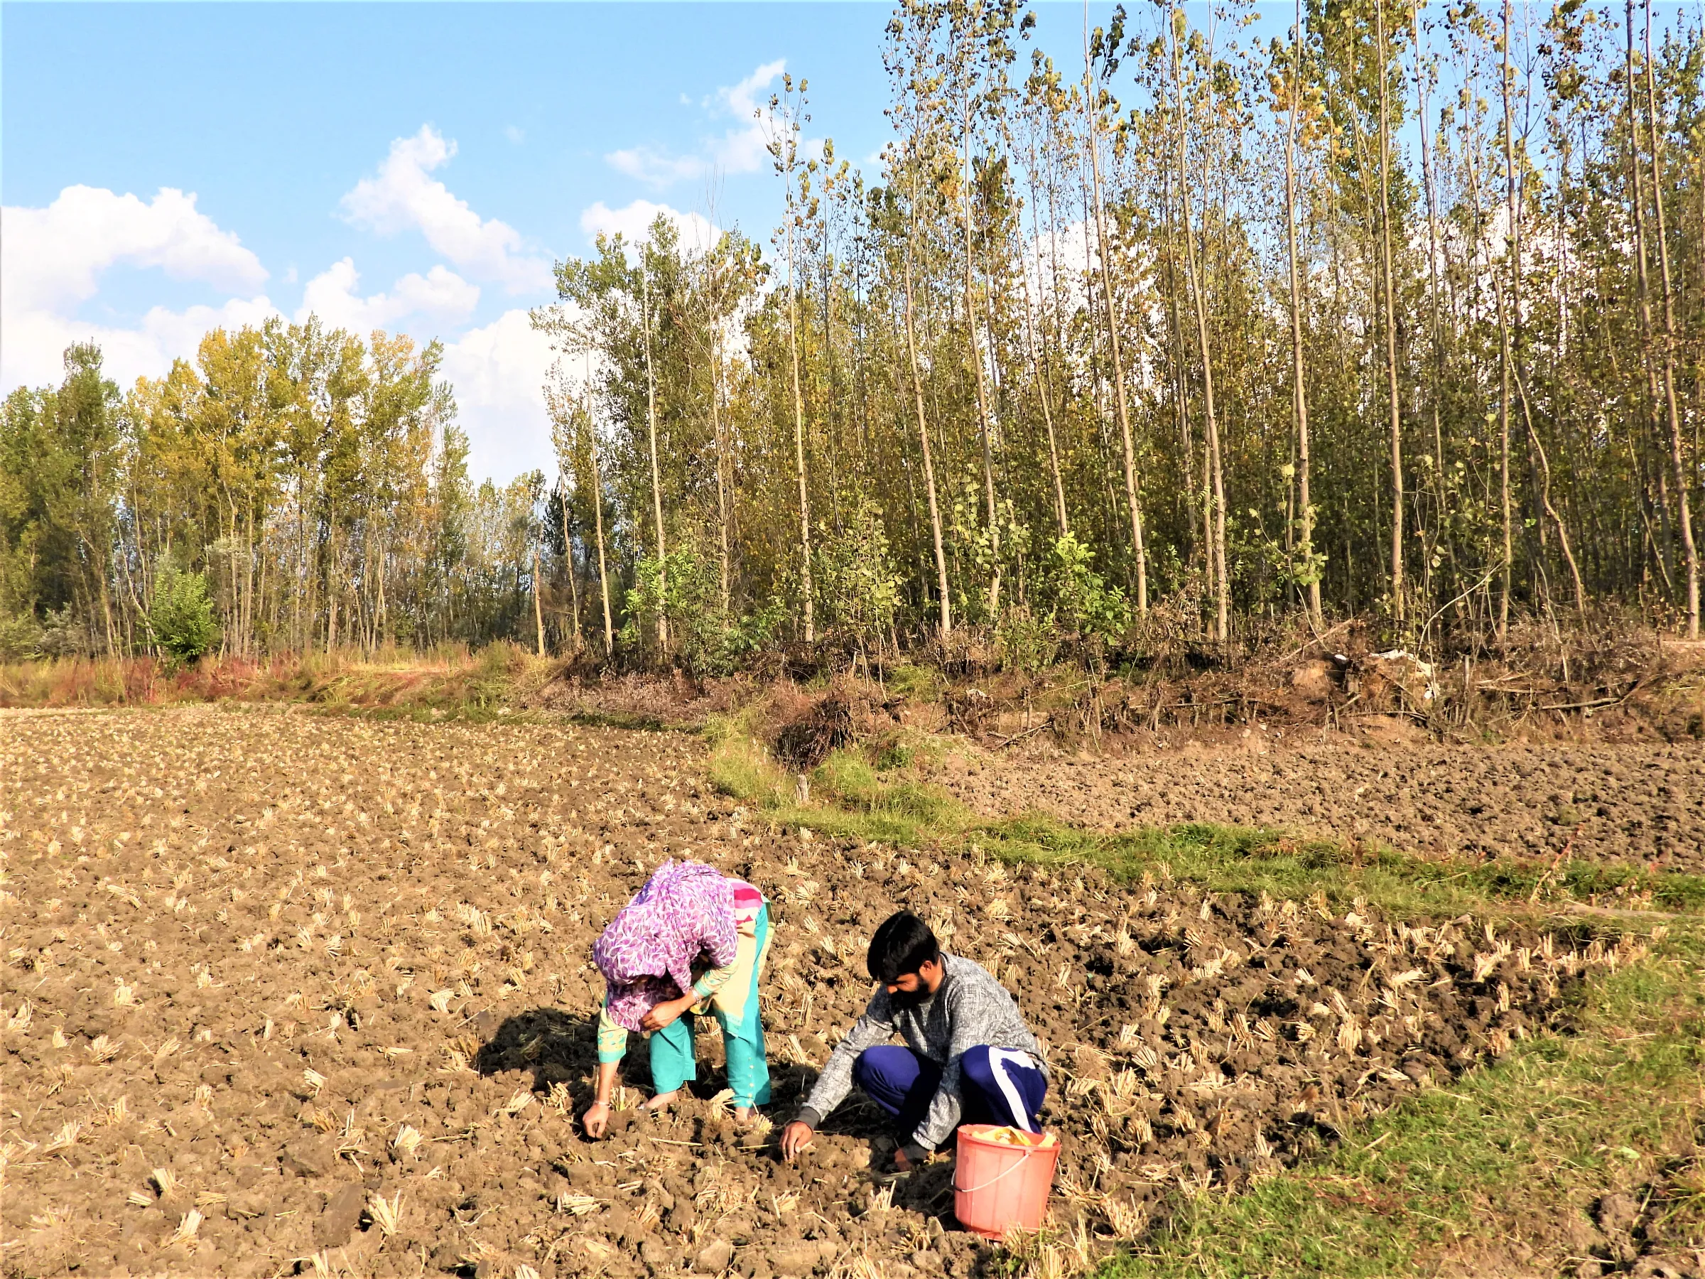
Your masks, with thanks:
[[[1664,1172],[1674,1151],[1693,1149],[1705,1120],[1705,877],[1434,859],[1212,824],[1096,834],[1045,815],[985,822],[912,778],[905,761],[880,762],[835,752],[801,796],[743,725],[723,723],[711,778],[777,825],[830,836],[1091,865],[1117,880],[1153,873],[1214,892],[1361,897],[1395,917],[1599,904],[1633,914],[1598,917],[1594,931],[1662,938],[1654,957],[1575,991],[1570,1033],[1521,1040],[1494,1066],[1405,1100],[1321,1158],[1236,1195],[1171,1201],[1142,1245],[1098,1279],[1557,1272],[1582,1260],[1574,1240],[1598,1195],[1650,1201],[1659,1182],[1666,1238],[1705,1247],[1700,1161]]]

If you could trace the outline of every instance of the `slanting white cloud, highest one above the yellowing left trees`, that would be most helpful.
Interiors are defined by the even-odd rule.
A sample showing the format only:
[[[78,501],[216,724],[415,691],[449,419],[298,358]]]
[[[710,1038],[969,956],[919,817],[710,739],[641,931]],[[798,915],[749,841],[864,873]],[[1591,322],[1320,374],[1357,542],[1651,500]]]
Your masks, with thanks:
[[[523,254],[522,235],[506,222],[481,218],[431,177],[455,155],[431,124],[413,138],[396,138],[377,177],[363,177],[343,198],[350,222],[394,235],[419,230],[426,242],[479,280],[496,280],[512,293],[551,288],[551,263]]]

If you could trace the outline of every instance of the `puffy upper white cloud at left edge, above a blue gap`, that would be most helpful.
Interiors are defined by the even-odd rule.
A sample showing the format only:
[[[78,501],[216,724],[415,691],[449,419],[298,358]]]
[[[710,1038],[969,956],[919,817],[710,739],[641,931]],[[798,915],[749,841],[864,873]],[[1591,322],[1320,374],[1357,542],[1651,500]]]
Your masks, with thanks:
[[[228,292],[266,283],[261,259],[196,208],[194,193],[162,188],[150,203],[68,186],[46,208],[0,210],[0,280],[7,310],[65,310],[94,297],[104,269],[159,266]]]

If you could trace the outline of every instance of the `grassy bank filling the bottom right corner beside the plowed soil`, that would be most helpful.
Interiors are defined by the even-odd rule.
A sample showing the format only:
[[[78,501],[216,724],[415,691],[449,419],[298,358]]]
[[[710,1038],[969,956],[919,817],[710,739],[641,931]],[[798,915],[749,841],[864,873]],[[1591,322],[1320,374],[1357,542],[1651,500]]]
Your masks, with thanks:
[[[1705,946],[1591,982],[1572,1021],[1245,1194],[1180,1199],[1101,1279],[1558,1274],[1630,1250],[1696,1265]],[[1618,1195],[1628,1228],[1596,1230]]]

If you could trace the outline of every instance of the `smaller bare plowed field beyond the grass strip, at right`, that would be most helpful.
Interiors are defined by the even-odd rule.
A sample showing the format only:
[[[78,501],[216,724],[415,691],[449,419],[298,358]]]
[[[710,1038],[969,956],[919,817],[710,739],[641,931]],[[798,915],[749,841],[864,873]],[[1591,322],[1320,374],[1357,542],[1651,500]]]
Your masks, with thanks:
[[[958,757],[946,786],[987,817],[1040,810],[1101,830],[1226,822],[1403,853],[1538,858],[1567,848],[1705,871],[1705,744],[1269,737],[1118,759]]]

